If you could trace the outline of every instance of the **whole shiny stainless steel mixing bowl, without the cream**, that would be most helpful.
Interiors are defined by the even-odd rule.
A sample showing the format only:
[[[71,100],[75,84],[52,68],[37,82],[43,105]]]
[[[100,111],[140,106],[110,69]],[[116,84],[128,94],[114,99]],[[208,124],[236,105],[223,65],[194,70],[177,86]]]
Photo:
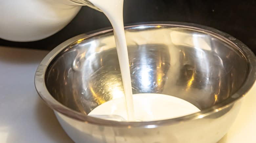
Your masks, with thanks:
[[[186,23],[128,26],[126,38],[133,93],[176,96],[202,111],[149,122],[87,116],[98,105],[124,96],[113,31],[103,30],[63,42],[36,71],[36,90],[67,134],[77,143],[220,140],[255,82],[256,58],[245,44]]]

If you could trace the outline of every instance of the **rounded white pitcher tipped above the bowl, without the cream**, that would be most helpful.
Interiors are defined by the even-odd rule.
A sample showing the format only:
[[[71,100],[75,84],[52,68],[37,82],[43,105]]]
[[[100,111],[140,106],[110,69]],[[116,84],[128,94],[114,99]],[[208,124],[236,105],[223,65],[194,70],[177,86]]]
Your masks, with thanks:
[[[97,9],[85,0],[2,0],[0,38],[20,42],[47,38],[64,28],[82,5]]]

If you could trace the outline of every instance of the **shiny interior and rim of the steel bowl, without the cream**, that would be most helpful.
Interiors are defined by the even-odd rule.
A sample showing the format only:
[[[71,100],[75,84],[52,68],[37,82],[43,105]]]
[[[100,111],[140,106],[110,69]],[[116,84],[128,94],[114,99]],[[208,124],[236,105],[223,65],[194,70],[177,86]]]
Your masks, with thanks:
[[[148,125],[218,112],[243,97],[255,81],[253,53],[239,40],[213,28],[184,23],[134,25],[126,27],[126,39],[134,94],[171,95],[202,111],[142,123],[86,116],[98,105],[124,96],[111,29],[77,36],[49,53],[35,76],[39,95],[52,109],[74,119]]]

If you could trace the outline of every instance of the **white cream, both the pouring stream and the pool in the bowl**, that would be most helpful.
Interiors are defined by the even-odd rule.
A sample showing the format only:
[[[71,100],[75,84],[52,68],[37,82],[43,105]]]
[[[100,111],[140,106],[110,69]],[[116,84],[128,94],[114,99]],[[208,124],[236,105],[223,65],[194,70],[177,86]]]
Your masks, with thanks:
[[[151,121],[171,119],[200,111],[193,104],[164,94],[132,94],[130,67],[123,25],[123,0],[90,0],[107,16],[114,29],[125,100],[103,103],[88,115],[117,121]],[[125,103],[124,103],[125,101]]]

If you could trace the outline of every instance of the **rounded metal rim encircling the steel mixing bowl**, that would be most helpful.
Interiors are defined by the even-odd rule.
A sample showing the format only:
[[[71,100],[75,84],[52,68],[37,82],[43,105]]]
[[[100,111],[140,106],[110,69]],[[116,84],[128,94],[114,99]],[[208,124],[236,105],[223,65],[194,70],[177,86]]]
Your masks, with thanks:
[[[139,23],[139,24],[130,24],[129,26],[125,26],[125,29],[134,29],[134,28],[161,28],[161,27],[181,27],[187,28],[190,30],[199,31],[201,33],[209,34],[214,36],[224,42],[230,44],[233,48],[236,48],[240,51],[240,54],[244,56],[247,62],[247,77],[244,81],[244,84],[238,89],[236,93],[230,96],[230,98],[224,100],[221,103],[218,103],[210,108],[204,109],[200,112],[193,113],[190,115],[173,118],[173,119],[164,119],[164,120],[157,120],[157,121],[143,121],[143,122],[119,122],[119,121],[112,121],[112,120],[105,120],[99,119],[95,117],[90,117],[79,113],[75,110],[72,110],[65,105],[59,103],[57,100],[53,98],[53,96],[49,93],[46,84],[45,84],[45,77],[47,74],[48,68],[51,66],[51,63],[54,61],[56,56],[58,56],[61,52],[65,52],[69,49],[72,44],[77,44],[80,40],[86,40],[92,38],[94,36],[98,36],[104,33],[113,32],[112,28],[104,28],[95,31],[88,32],[87,34],[81,34],[75,36],[69,40],[64,41],[56,48],[54,48],[39,64],[34,78],[34,84],[36,91],[38,92],[39,96],[42,100],[54,111],[61,113],[71,119],[76,119],[85,123],[97,124],[97,125],[105,125],[105,126],[117,126],[117,127],[143,127],[143,128],[156,128],[162,125],[170,125],[174,123],[194,120],[194,119],[201,119],[205,116],[218,112],[220,110],[224,110],[232,106],[235,102],[239,101],[245,94],[249,91],[249,89],[253,86],[255,79],[256,79],[256,57],[253,52],[240,40],[232,37],[231,35],[219,31],[215,28],[211,28],[208,26],[203,26],[199,24],[192,24],[192,23],[183,23],[183,22],[150,22],[150,23]]]

